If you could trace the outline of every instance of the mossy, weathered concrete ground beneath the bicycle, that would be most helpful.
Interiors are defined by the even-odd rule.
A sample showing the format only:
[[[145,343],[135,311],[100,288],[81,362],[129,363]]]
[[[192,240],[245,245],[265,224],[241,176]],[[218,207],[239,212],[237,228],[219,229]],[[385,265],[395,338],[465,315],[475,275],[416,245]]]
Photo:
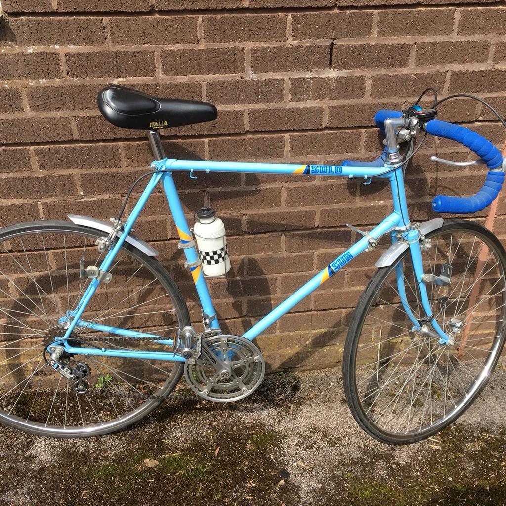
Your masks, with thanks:
[[[388,446],[355,423],[340,369],[277,373],[250,401],[159,407],[96,439],[0,429],[2,505],[506,504],[506,370],[437,437]]]

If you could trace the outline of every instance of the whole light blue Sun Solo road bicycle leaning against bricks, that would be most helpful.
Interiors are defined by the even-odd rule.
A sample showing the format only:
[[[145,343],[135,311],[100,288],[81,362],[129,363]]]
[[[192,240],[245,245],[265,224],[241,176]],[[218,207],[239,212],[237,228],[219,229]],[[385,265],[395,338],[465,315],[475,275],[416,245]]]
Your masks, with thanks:
[[[489,168],[483,189],[471,197],[437,196],[433,203],[438,213],[466,214],[497,197],[506,163],[477,133],[435,118],[439,103],[449,98],[438,102],[435,97],[431,108],[421,108],[418,100],[402,112],[378,111],[375,122],[386,136],[385,147],[370,162],[249,163],[166,158],[158,131],[213,120],[216,108],[106,87],[98,98],[102,114],[116,126],[147,130],[155,160],[110,223],[69,215],[70,222],[35,221],[0,230],[5,343],[0,347],[0,420],[45,436],[106,434],[171,399],[183,372],[201,398],[245,398],[265,374],[262,353],[252,341],[382,237],[390,237],[392,244],[376,262],[349,325],[346,399],[360,427],[387,443],[419,441],[452,423],[483,390],[504,345],[506,256],[498,239],[476,222],[412,223],[404,173],[428,134],[467,146],[480,157],[471,163]],[[415,147],[420,133],[425,136]],[[208,266],[227,270],[226,237],[216,233],[207,239],[222,241],[221,247],[202,250],[174,183],[173,173],[179,171],[384,179],[391,186],[393,212],[369,231],[350,225],[361,235],[355,244],[242,335],[226,335],[203,275]],[[134,187],[147,176],[123,222]],[[158,183],[198,294],[203,331],[192,326],[180,289],[155,258],[158,251],[132,233]],[[207,220],[203,224],[215,223],[210,209],[201,209],[200,217]]]

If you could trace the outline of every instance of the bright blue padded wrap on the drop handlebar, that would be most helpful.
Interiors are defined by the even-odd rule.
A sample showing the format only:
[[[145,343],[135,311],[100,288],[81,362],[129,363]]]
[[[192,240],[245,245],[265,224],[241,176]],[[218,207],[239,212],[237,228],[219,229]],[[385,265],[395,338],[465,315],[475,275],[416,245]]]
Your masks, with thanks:
[[[383,109],[376,112],[374,122],[378,129],[385,134],[385,120],[399,118],[402,114],[400,111]],[[472,214],[490,205],[497,198],[504,182],[504,172],[494,170],[503,164],[503,157],[499,150],[487,139],[465,126],[440,119],[431,119],[424,126],[427,133],[431,135],[443,137],[468,147],[482,158],[490,169],[485,184],[478,193],[470,197],[438,195],[432,202],[432,208],[437,213]]]

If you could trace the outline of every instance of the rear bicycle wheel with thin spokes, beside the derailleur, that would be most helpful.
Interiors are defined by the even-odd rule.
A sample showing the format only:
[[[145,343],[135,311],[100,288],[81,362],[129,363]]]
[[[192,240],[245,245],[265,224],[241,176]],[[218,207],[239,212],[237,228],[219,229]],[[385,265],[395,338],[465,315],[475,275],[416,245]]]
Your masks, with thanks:
[[[83,390],[48,364],[46,347],[65,330],[59,318],[76,307],[90,279],[79,263],[98,266],[101,233],[66,222],[32,222],[0,231],[0,421],[34,434],[97,436],[139,420],[166,398],[183,363],[68,355],[61,361],[83,371]],[[82,319],[174,339],[188,325],[181,292],[152,257],[125,243]],[[171,351],[152,341],[112,339],[76,327],[74,347]],[[119,336],[115,336],[118,338]]]

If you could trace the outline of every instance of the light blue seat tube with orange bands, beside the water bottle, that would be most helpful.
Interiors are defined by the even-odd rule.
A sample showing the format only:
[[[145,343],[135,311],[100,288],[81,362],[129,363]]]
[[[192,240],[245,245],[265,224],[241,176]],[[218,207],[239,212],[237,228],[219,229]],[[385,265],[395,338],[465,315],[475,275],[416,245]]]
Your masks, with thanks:
[[[221,331],[216,310],[213,301],[209,294],[209,288],[202,273],[200,259],[195,242],[192,238],[190,227],[186,221],[183,206],[174,183],[174,178],[171,172],[164,173],[162,176],[163,190],[167,197],[167,202],[171,208],[171,213],[174,218],[174,223],[181,240],[180,247],[183,249],[186,257],[186,266],[190,269],[195,288],[197,289],[200,304],[204,315],[209,319],[209,327],[216,331]]]

